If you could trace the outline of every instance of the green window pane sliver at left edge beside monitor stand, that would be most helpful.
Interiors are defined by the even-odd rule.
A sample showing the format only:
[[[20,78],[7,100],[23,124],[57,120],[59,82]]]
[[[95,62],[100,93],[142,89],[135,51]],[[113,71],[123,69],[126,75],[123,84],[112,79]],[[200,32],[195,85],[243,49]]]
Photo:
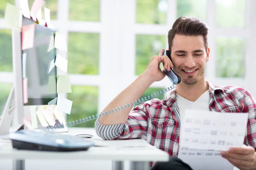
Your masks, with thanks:
[[[12,84],[0,83],[0,115],[3,113],[3,108],[6,104],[9,93],[12,89]]]

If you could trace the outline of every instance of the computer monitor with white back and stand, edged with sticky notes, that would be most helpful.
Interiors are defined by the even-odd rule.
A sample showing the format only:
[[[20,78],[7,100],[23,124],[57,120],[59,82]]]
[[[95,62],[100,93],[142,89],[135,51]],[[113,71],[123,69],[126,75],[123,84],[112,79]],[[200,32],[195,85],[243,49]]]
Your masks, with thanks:
[[[29,117],[30,106],[48,105],[48,102],[58,96],[57,93],[47,93],[47,89],[50,88],[48,85],[49,76],[57,75],[56,67],[49,72],[49,65],[55,59],[55,48],[48,51],[54,30],[23,17],[22,26],[29,24],[35,24],[33,48],[22,50],[22,34],[16,29],[12,30],[14,83],[0,119],[0,134],[9,133],[14,110],[17,114],[18,123],[23,125],[23,118]],[[24,94],[23,91],[23,79],[25,78],[27,78],[27,94]],[[26,95],[27,102],[24,103],[23,97]],[[13,98],[14,102],[12,102]],[[10,105],[12,105],[11,109]]]

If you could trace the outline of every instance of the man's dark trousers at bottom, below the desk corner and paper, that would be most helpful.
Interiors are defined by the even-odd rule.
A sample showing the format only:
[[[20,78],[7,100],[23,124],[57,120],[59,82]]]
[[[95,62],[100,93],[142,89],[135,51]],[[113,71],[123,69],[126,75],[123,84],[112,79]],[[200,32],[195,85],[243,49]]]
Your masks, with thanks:
[[[180,159],[170,156],[168,162],[157,162],[151,170],[192,170],[192,168]]]

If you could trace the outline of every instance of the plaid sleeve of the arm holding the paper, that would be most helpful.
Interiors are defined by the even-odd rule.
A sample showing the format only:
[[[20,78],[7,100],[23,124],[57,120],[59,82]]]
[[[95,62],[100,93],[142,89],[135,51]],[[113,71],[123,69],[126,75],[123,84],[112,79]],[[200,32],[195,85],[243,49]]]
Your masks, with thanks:
[[[247,137],[244,139],[244,144],[252,146],[256,150],[256,101],[247,90],[244,90],[244,96],[243,112],[249,114],[247,122]]]

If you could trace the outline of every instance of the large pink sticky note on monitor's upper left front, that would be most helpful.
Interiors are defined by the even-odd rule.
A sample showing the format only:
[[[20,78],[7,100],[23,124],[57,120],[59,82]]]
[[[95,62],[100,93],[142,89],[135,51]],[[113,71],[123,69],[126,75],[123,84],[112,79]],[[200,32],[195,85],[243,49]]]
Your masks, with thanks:
[[[34,47],[35,24],[29,24],[21,28],[21,49]]]

